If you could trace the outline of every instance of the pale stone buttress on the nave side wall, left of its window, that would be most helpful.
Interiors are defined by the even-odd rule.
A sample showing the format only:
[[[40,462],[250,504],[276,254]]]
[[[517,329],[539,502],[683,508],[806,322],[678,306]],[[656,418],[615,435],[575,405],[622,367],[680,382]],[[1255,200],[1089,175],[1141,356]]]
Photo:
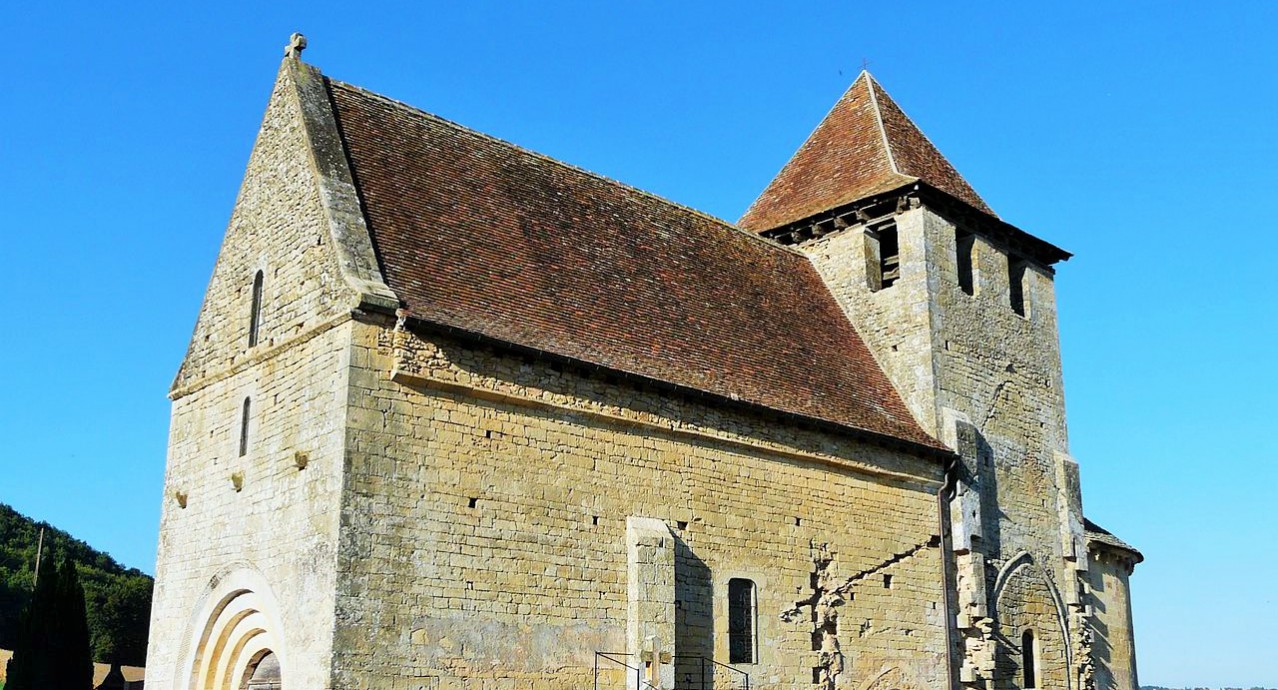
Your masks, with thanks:
[[[626,652],[642,677],[630,687],[675,686],[675,537],[654,518],[626,518]]]

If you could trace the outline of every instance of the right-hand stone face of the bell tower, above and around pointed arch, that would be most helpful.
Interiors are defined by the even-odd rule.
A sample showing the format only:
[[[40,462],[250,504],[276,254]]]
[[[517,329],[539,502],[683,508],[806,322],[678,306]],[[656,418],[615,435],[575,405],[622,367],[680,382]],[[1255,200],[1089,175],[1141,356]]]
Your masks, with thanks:
[[[982,494],[980,540],[997,645],[996,687],[1020,672],[1015,652],[1031,627],[1042,643],[1040,676],[1049,687],[1076,687],[1085,656],[1071,634],[1076,617],[1065,608],[1077,592],[1075,569],[1066,561],[1062,520],[1081,506],[1077,486],[1061,484],[1070,473],[1065,394],[1061,373],[1056,295],[1052,275],[1025,271],[1026,314],[1008,302],[1007,252],[975,238],[974,295],[958,288],[955,225],[920,210],[929,244],[933,282],[933,332],[937,342],[937,405],[965,415],[982,443],[966,471]],[[1081,515],[1072,518],[1081,529]],[[1028,555],[1038,571],[1035,588],[1021,597],[998,589],[1001,569]],[[1013,643],[1013,644],[1008,644]]]

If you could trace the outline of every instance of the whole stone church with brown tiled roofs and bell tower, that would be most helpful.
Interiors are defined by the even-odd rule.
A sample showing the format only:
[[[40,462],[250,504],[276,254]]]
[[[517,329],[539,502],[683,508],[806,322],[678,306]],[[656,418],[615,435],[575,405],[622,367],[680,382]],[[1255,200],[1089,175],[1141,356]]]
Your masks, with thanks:
[[[170,392],[148,687],[1136,686],[1070,254],[872,75],[730,224],[303,47]]]

